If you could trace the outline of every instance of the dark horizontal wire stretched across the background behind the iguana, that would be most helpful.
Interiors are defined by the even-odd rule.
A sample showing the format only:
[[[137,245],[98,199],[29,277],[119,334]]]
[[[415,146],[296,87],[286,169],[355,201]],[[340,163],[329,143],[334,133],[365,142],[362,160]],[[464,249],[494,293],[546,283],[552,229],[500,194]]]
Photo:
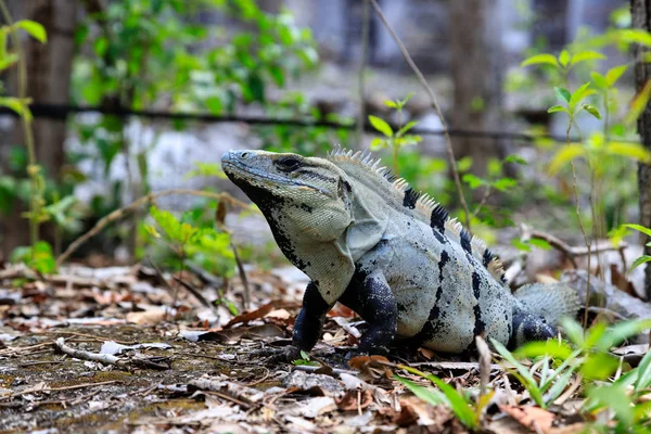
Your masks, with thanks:
[[[162,119],[162,120],[189,120],[199,122],[206,124],[224,124],[224,123],[243,123],[247,125],[261,125],[261,126],[286,126],[294,128],[329,128],[329,129],[343,129],[354,131],[357,129],[357,123],[336,123],[330,120],[318,120],[311,118],[277,118],[277,117],[265,117],[265,116],[242,116],[242,115],[213,115],[207,113],[173,113],[165,111],[151,111],[151,110],[130,110],[124,107],[103,107],[103,106],[79,106],[79,105],[67,105],[67,104],[46,104],[46,103],[33,103],[29,105],[31,114],[35,118],[49,118],[49,119],[66,119],[68,115],[82,114],[82,113],[98,113],[103,115],[114,115],[119,117],[142,117],[149,119]],[[0,108],[0,115],[17,116],[15,112],[9,108]],[[392,125],[394,130],[397,130],[396,125]],[[365,124],[363,130],[369,133],[378,133],[378,131],[370,125]],[[420,128],[414,127],[410,130],[411,133],[420,136],[439,136],[443,137],[445,131],[443,129],[433,128]],[[535,142],[540,139],[552,140],[556,142],[564,143],[565,137],[553,136],[553,135],[531,135],[526,132],[511,132],[511,131],[481,131],[470,129],[458,129],[450,128],[448,130],[450,136],[454,137],[467,137],[475,139],[488,139],[488,140],[513,140],[522,142]],[[579,141],[576,137],[571,137],[571,141]],[[629,141],[635,142],[635,141]]]

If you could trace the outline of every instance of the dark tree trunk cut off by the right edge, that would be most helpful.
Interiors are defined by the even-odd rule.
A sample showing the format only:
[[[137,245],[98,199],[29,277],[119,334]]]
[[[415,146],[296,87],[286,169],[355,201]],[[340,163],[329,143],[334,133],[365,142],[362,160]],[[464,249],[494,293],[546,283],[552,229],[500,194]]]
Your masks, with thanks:
[[[630,0],[630,12],[633,15],[633,27],[651,31],[651,0]],[[635,48],[635,81],[637,90],[640,91],[647,80],[651,79],[651,64],[641,62],[643,52],[648,49],[636,46]],[[643,145],[651,151],[651,107],[647,105],[638,119],[638,132]],[[639,163],[638,187],[640,189],[640,225],[651,228],[651,166]],[[644,244],[649,237],[643,237]],[[644,254],[651,255],[651,247],[644,247]],[[651,263],[647,264],[644,294],[651,299]]]

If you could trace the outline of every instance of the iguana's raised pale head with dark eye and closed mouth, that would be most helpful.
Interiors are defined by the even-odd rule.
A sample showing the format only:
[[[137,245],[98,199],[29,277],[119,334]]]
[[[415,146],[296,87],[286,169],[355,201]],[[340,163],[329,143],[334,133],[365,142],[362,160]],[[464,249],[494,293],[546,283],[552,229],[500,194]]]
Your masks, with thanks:
[[[281,232],[292,244],[332,241],[353,221],[346,174],[324,158],[229,151],[221,167],[258,205],[277,240]]]

